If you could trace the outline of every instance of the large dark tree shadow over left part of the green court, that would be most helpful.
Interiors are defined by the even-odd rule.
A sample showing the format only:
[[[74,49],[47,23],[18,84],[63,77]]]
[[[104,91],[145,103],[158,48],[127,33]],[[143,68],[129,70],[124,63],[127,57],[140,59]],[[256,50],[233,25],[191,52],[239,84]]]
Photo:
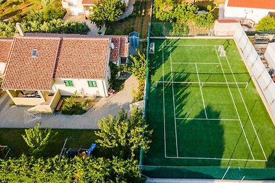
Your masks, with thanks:
[[[181,81],[188,82],[189,73],[184,69]],[[171,81],[170,73],[164,75],[164,81]],[[221,121],[176,119],[180,112],[181,118],[190,118],[185,109],[186,102],[192,100],[189,84],[175,87],[171,83],[150,85],[148,96],[147,123],[154,129],[153,143],[147,154],[144,154],[144,164],[163,166],[220,166],[221,160],[207,158],[222,158],[224,151],[223,126]],[[173,90],[174,88],[174,90]],[[200,97],[200,96],[199,96]],[[163,102],[164,101],[164,102]],[[175,106],[174,106],[175,102]],[[188,101],[190,102],[190,101]],[[200,101],[201,102],[201,101]],[[194,108],[197,102],[193,101]],[[220,112],[212,106],[206,106],[210,117],[220,118]],[[193,119],[202,119],[204,108],[198,110]],[[176,126],[175,126],[176,124]],[[177,130],[177,142],[175,139]],[[178,149],[178,152],[177,150]],[[166,156],[187,158],[165,158]],[[188,158],[189,157],[189,158]],[[181,170],[179,170],[181,171]],[[182,173],[182,172],[181,172]],[[203,174],[203,173],[202,173]],[[203,178],[210,178],[202,175]]]

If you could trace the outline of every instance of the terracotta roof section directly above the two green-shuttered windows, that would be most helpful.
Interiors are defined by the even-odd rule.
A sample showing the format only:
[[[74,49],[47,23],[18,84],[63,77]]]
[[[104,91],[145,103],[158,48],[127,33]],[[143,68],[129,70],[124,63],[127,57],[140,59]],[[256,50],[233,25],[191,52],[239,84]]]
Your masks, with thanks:
[[[109,45],[109,38],[63,38],[54,77],[104,78]]]

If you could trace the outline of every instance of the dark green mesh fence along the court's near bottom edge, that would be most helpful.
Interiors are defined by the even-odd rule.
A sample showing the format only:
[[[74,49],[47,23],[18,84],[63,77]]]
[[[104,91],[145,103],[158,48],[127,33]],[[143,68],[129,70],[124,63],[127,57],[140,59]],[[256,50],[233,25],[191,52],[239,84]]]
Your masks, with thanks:
[[[275,180],[274,168],[169,167],[141,165],[140,169],[142,171],[142,175],[148,178]]]

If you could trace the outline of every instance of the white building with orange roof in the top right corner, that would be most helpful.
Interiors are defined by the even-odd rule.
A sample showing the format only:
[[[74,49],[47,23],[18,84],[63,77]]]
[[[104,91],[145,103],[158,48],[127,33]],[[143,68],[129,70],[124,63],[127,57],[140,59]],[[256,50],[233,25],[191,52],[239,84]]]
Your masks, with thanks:
[[[251,19],[258,23],[270,12],[275,12],[275,0],[226,0],[224,18]]]

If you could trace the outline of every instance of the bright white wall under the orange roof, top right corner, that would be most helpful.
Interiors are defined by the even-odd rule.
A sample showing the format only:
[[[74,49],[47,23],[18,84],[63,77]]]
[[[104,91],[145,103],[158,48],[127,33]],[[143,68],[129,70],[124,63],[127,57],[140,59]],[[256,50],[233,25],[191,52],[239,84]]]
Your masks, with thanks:
[[[246,14],[245,12],[251,13]],[[275,10],[257,9],[257,8],[237,8],[225,6],[224,17],[226,18],[241,18],[252,19],[255,23],[258,23],[264,16],[267,16],[269,12],[275,12]]]

